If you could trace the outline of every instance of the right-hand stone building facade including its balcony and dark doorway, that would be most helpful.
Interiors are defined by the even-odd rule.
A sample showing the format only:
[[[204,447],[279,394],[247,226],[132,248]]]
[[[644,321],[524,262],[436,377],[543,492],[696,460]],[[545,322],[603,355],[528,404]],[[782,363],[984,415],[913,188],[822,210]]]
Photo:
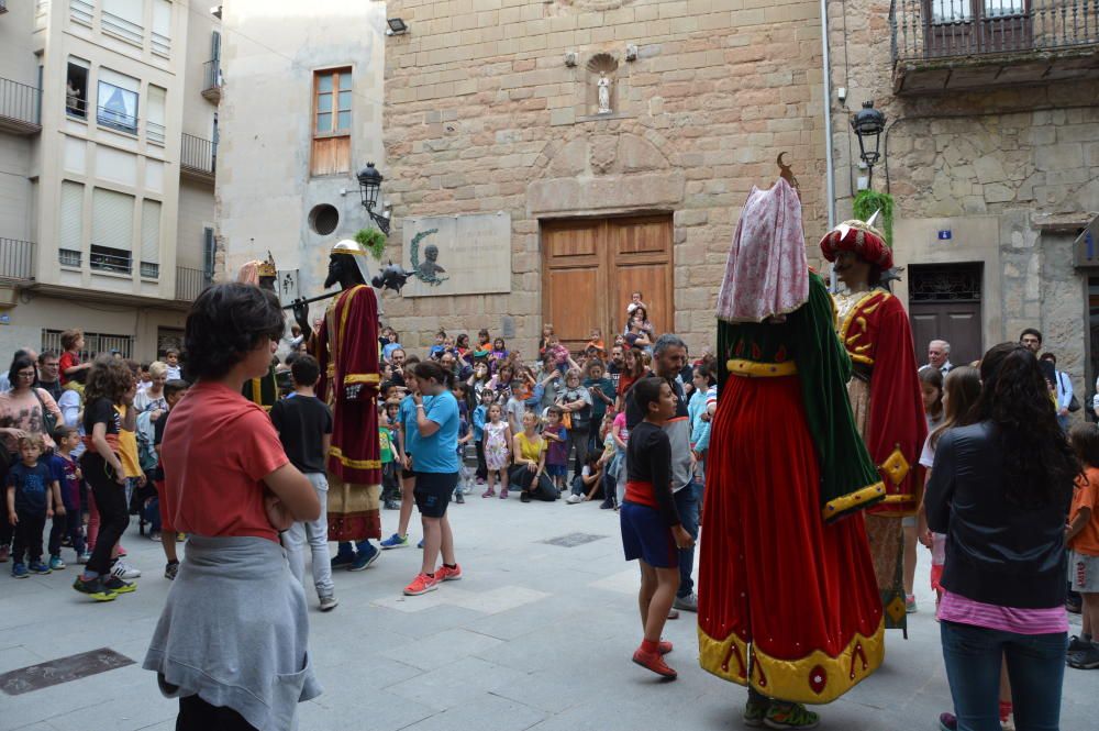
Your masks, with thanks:
[[[832,99],[841,218],[865,175],[847,117],[873,99],[887,117],[874,188],[896,199],[906,273],[895,291],[918,335],[959,333],[957,363],[1037,328],[1083,401],[1099,373],[1089,323],[1099,272],[1077,266],[1086,263],[1074,251],[1099,212],[1097,11],[1034,0],[1022,14],[936,26],[926,10],[919,0],[829,3],[832,81],[847,89],[846,107]],[[1068,20],[1054,33],[1062,11]]]

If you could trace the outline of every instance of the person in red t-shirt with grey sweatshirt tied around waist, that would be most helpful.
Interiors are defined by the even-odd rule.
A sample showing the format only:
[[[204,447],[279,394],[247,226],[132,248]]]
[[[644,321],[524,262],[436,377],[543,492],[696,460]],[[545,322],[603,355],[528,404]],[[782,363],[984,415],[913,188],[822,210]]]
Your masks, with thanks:
[[[168,522],[190,538],[144,662],[179,698],[177,731],[288,730],[298,702],[320,694],[306,594],[279,533],[321,506],[267,413],[241,395],[284,330],[274,292],[243,284],[210,287],[187,315],[195,385],[171,410],[160,463]]]

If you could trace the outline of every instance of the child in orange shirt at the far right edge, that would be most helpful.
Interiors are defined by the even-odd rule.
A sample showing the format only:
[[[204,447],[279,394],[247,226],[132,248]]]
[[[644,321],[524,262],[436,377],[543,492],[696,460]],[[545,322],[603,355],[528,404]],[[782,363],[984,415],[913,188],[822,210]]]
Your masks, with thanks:
[[[1084,464],[1077,479],[1073,507],[1065,527],[1069,547],[1073,590],[1084,598],[1084,627],[1068,645],[1068,664],[1080,669],[1099,668],[1099,424],[1077,424],[1069,433],[1073,450]]]

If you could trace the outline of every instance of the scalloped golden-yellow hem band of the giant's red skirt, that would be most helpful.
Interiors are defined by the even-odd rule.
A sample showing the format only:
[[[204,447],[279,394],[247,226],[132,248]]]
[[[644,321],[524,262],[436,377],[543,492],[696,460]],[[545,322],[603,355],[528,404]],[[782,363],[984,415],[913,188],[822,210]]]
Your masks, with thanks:
[[[869,677],[885,657],[885,620],[869,638],[857,632],[832,657],[814,650],[800,660],[778,660],[748,649],[735,633],[724,641],[714,640],[699,628],[699,665],[702,669],[737,685],[747,685],[770,698],[800,704],[829,704]],[[751,653],[752,677],[741,674],[740,657],[748,662]],[[725,657],[729,656],[726,661]],[[818,691],[819,688],[819,691]]]

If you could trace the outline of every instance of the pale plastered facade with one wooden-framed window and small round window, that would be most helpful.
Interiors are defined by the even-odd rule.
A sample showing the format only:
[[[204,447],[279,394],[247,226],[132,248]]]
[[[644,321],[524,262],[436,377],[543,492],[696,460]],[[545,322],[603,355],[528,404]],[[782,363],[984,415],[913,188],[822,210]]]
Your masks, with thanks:
[[[370,225],[355,174],[385,157],[385,3],[229,0],[222,26],[219,276],[270,255],[284,301],[318,295],[332,245]]]

